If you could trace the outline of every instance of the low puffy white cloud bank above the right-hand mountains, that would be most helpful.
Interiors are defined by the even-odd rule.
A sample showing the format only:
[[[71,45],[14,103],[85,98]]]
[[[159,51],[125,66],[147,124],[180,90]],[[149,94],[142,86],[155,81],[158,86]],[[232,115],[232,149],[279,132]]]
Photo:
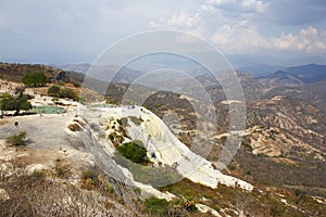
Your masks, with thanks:
[[[265,38],[256,26],[250,26],[247,21],[242,21],[234,26],[220,27],[211,40],[224,51],[231,53],[259,53],[264,50],[326,52],[325,33],[319,34],[317,28],[312,26],[301,29],[297,35],[281,34],[278,37]]]

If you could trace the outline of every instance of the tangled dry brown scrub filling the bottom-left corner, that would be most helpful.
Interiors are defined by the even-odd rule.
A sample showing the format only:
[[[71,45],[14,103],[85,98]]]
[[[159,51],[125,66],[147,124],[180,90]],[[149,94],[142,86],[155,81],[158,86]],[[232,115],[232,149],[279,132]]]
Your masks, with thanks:
[[[26,165],[25,165],[26,166]],[[15,167],[15,165],[13,165]],[[18,167],[23,171],[24,166]],[[0,189],[9,199],[0,197],[0,216],[134,216],[131,204],[123,205],[124,197],[113,194],[116,188],[102,175],[86,173],[85,178],[96,180],[91,191],[67,183],[51,171],[36,171],[32,175],[7,173],[0,167]],[[131,199],[134,200],[134,199]],[[129,201],[134,203],[133,201]],[[126,206],[126,207],[125,207]],[[134,210],[131,212],[130,208]]]

